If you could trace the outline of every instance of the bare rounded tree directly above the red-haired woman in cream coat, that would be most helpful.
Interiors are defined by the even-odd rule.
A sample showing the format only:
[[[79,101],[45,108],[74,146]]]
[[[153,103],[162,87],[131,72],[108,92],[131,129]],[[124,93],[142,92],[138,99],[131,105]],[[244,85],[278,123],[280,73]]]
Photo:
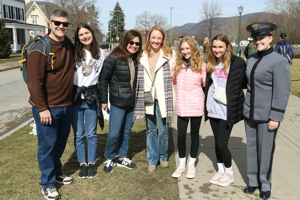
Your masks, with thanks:
[[[145,35],[148,35],[153,26],[160,26],[166,30],[168,27],[168,19],[161,14],[154,13],[152,15],[150,11],[144,10],[142,14],[135,17],[135,24],[135,29],[144,30]]]

